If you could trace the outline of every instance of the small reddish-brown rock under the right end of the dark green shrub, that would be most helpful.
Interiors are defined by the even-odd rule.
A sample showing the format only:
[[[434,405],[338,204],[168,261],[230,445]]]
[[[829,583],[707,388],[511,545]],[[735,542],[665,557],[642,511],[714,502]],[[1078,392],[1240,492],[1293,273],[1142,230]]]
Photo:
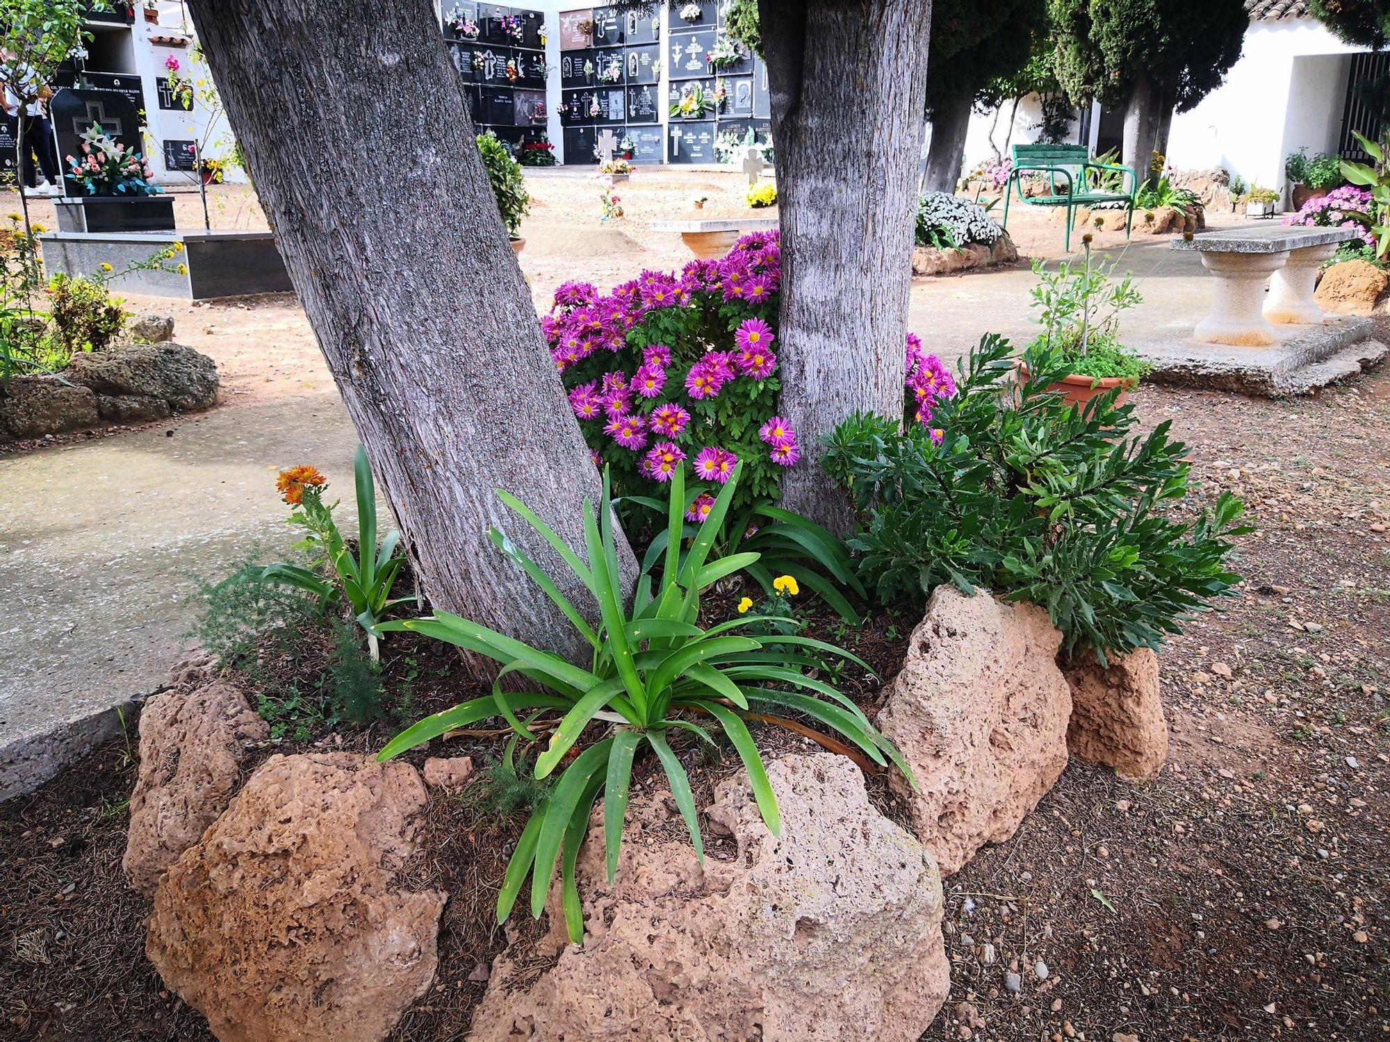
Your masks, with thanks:
[[[1158,697],[1158,656],[1151,647],[1108,656],[1102,668],[1087,652],[1066,665],[1072,688],[1068,747],[1087,763],[1113,767],[1127,781],[1148,781],[1168,759],[1168,722]]]

